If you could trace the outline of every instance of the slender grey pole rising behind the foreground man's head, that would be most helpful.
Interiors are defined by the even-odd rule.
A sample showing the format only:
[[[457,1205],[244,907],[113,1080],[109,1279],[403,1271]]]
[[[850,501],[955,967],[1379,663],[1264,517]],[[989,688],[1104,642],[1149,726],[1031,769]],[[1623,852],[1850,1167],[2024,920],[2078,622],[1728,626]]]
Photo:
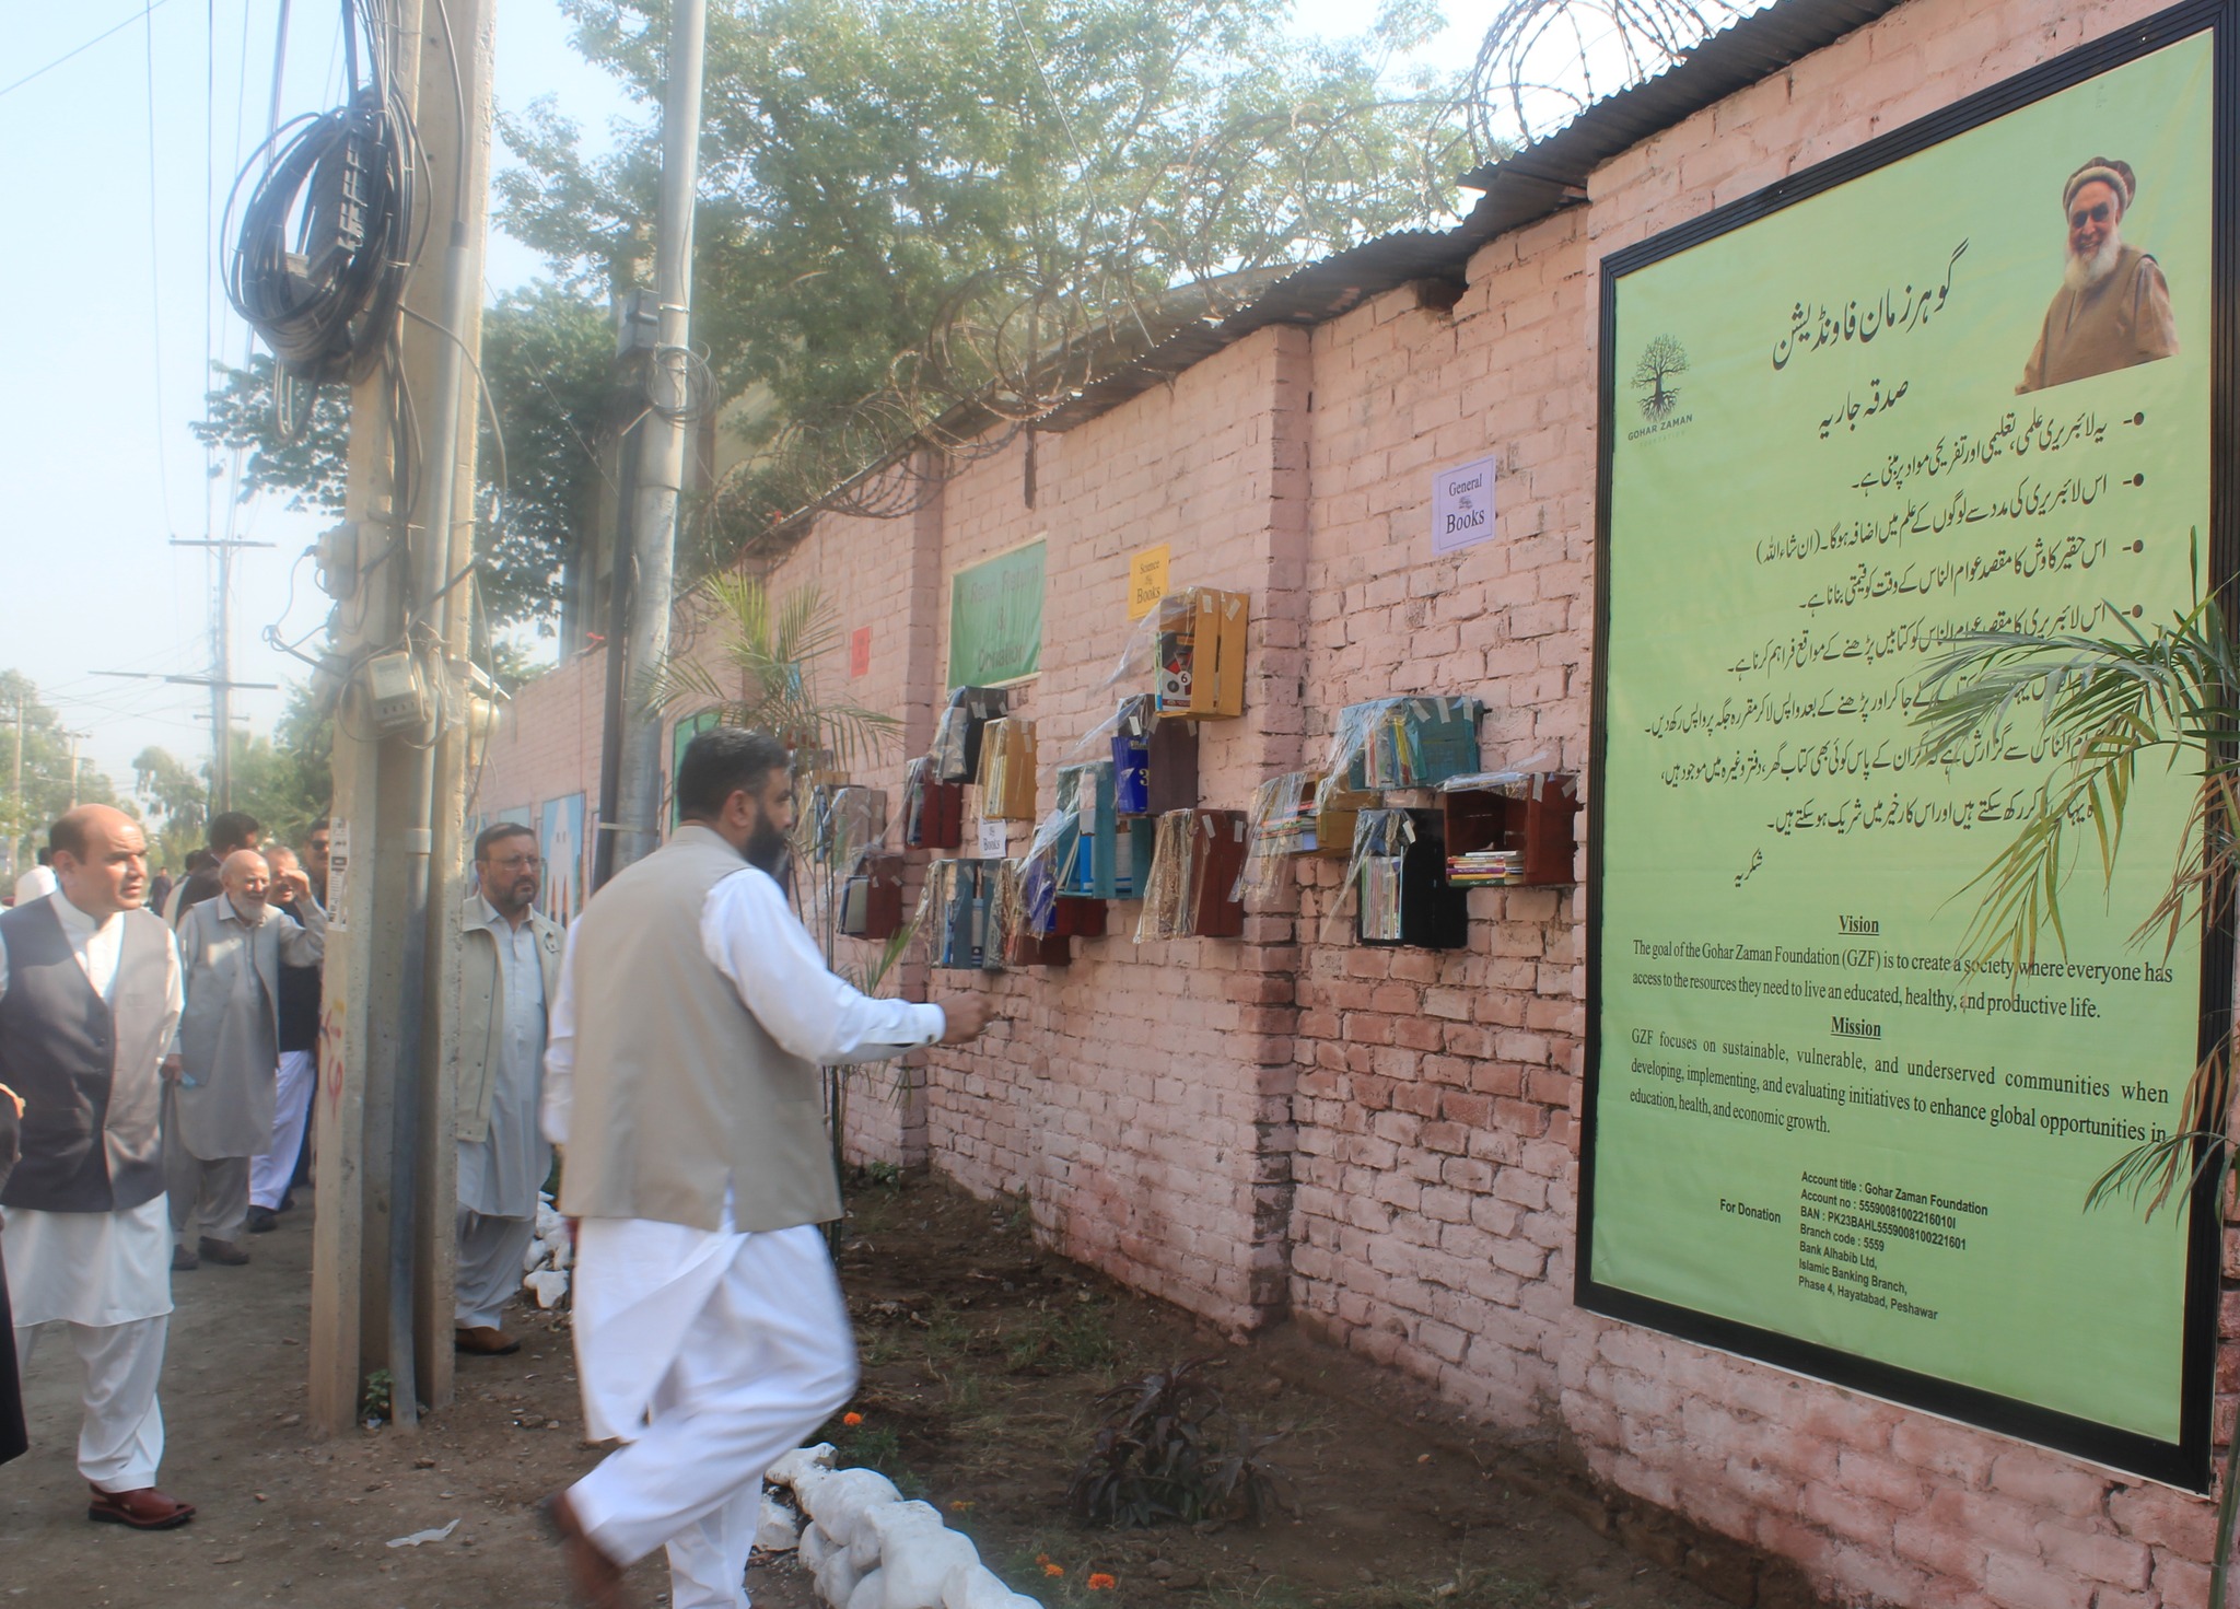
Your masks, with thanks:
[[[632,513],[636,583],[629,603],[629,679],[625,699],[620,820],[614,863],[625,867],[661,843],[661,710],[645,706],[645,677],[670,652],[670,594],[676,578],[676,497],[685,484],[685,403],[692,338],[692,204],[699,193],[701,69],[708,47],[708,0],[670,7],[670,83],[661,103],[661,217],[654,233],[654,294],[661,338],[647,368],[647,394],[663,406],[638,424],[638,506]],[[674,392],[663,397],[663,374]],[[616,585],[620,585],[616,551]],[[607,652],[625,645],[609,643]]]

